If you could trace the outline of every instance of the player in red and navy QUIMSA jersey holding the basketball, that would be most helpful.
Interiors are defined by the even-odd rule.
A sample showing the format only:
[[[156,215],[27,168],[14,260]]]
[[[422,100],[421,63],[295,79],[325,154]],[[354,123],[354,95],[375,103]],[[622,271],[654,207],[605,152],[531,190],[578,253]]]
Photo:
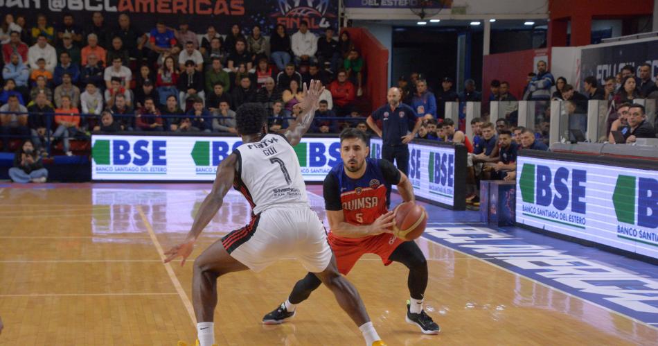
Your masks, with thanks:
[[[384,266],[393,261],[409,268],[407,284],[411,299],[406,320],[424,334],[438,334],[440,328],[425,311],[427,261],[414,241],[402,241],[382,227],[391,217],[387,211],[391,185],[397,185],[405,202],[413,201],[414,188],[398,168],[386,159],[371,159],[368,135],[354,128],[341,132],[341,159],[323,185],[325,209],[331,232],[328,240],[336,256],[338,270],[347,275],[363,254],[377,254]],[[308,273],[295,284],[288,299],[263,318],[265,324],[278,324],[295,315],[296,304],[308,298],[321,281]]]

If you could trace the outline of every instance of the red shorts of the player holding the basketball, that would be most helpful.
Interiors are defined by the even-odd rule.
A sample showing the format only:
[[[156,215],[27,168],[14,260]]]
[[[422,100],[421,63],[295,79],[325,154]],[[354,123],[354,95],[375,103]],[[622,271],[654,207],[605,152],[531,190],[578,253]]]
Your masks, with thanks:
[[[347,275],[363,254],[377,254],[384,266],[391,264],[391,254],[404,243],[403,240],[390,233],[364,236],[363,238],[345,238],[329,233],[329,245],[336,256],[338,271]]]

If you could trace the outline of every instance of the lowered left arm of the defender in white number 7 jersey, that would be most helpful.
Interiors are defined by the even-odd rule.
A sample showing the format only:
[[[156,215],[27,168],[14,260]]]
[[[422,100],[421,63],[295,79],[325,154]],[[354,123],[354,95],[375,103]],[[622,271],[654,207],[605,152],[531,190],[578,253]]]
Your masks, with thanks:
[[[165,263],[172,261],[176,257],[182,257],[181,266],[185,264],[185,260],[190,256],[194,248],[194,243],[199,238],[202,230],[210,223],[217,211],[220,210],[224,204],[224,196],[229,192],[233,186],[235,179],[235,168],[238,166],[238,155],[231,154],[226,157],[224,161],[217,167],[217,178],[213,183],[213,190],[199,207],[199,211],[194,218],[192,230],[188,233],[185,241],[179,245],[174,246],[165,254],[168,256]]]

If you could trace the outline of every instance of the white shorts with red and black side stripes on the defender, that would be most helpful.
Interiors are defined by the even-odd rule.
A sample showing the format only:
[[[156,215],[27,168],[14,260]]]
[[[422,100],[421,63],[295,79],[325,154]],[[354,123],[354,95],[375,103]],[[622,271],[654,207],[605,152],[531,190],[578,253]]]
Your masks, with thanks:
[[[294,257],[311,273],[331,261],[327,234],[310,207],[276,207],[254,216],[249,225],[226,234],[222,245],[231,257],[255,272]]]

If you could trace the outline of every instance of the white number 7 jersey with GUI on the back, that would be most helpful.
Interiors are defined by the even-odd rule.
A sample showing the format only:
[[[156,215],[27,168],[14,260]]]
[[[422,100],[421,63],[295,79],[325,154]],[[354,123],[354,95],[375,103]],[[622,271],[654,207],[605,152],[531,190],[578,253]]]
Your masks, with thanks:
[[[267,134],[235,151],[239,154],[235,189],[249,200],[254,214],[282,205],[308,206],[299,161],[285,137]]]

